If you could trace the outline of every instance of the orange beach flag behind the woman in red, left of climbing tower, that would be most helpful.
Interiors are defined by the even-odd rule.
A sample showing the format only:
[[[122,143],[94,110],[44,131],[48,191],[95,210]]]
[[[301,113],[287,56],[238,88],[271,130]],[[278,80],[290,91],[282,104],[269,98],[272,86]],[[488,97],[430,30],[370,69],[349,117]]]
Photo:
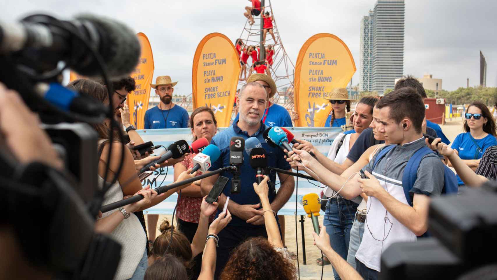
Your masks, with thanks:
[[[193,58],[193,108],[210,107],[219,127],[230,125],[237,91],[240,59],[235,46],[221,33],[205,36]]]

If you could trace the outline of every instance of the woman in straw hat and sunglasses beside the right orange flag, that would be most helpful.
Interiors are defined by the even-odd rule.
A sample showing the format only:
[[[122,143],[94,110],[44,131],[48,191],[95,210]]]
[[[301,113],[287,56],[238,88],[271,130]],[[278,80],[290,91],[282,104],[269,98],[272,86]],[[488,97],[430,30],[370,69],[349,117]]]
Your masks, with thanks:
[[[350,101],[348,92],[343,88],[336,88],[325,97],[330,100],[333,110],[326,119],[325,127],[340,127],[346,124],[345,113],[350,112]],[[346,111],[345,111],[346,108]]]

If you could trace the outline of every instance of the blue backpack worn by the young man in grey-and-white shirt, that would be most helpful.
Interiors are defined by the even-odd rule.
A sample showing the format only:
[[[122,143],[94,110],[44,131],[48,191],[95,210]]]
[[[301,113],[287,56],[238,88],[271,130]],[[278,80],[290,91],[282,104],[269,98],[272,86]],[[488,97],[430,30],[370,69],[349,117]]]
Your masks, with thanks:
[[[375,158],[373,168],[383,157],[385,157],[388,151],[392,150],[395,146],[397,145],[388,145],[383,150],[381,150]],[[404,170],[404,175],[402,176],[402,187],[404,188],[404,194],[406,195],[407,202],[411,206],[413,206],[413,200],[411,199],[409,191],[414,187],[414,182],[416,182],[417,168],[421,163],[421,159],[430,153],[435,153],[435,152],[430,150],[426,146],[420,148],[414,153],[411,159],[409,159],[406,165],[406,169]],[[456,175],[446,165],[444,165],[443,167],[444,167],[444,174],[443,174],[444,184],[442,188],[442,194],[457,194],[459,186],[457,184]]]

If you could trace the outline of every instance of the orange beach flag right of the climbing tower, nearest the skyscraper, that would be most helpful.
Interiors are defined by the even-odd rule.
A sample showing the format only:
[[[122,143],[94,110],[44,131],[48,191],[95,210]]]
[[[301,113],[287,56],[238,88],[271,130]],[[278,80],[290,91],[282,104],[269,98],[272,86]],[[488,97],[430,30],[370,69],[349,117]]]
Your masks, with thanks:
[[[325,98],[334,88],[345,88],[355,73],[347,45],[337,36],[319,33],[300,49],[295,66],[295,126],[324,126],[331,112]]]

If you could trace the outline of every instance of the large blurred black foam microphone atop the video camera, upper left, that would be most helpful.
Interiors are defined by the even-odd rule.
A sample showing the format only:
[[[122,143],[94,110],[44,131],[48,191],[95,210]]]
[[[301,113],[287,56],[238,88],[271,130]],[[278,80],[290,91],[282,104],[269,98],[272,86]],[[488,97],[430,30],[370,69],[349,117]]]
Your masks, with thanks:
[[[100,54],[111,78],[128,76],[140,59],[140,42],[129,27],[114,19],[83,14],[71,21],[37,14],[21,22],[0,24],[0,53],[18,52],[23,64],[46,71],[59,61],[83,76],[97,76],[97,59],[78,39]]]

